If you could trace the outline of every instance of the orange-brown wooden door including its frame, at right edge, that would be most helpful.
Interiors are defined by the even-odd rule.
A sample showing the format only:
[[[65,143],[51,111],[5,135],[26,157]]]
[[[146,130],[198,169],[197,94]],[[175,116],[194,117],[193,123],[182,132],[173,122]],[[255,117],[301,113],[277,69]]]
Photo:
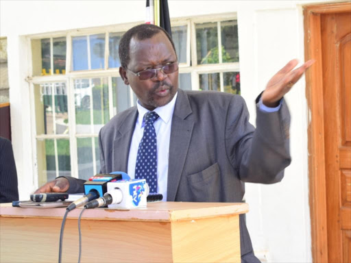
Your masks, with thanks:
[[[313,262],[351,262],[351,3],[304,6]]]

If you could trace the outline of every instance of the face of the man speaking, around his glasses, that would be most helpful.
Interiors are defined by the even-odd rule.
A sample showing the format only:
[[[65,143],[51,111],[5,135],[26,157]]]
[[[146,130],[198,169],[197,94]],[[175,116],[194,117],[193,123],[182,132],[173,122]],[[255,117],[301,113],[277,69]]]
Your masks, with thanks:
[[[130,62],[128,69],[119,68],[126,85],[130,85],[141,105],[147,110],[166,105],[178,90],[178,71],[164,74],[157,71],[152,79],[141,81],[134,73],[147,68],[160,68],[167,63],[176,62],[177,56],[167,36],[160,32],[152,38],[130,41]]]

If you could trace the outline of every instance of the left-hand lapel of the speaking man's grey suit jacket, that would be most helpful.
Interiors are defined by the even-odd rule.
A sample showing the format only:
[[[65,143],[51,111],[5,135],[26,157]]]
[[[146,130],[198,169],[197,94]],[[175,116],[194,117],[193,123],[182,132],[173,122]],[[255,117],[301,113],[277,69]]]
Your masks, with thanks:
[[[116,139],[113,141],[112,149],[112,170],[128,172],[128,157],[130,151],[130,142],[134,132],[136,123],[136,117],[138,116],[138,110],[136,107],[128,114],[120,125],[117,131]]]

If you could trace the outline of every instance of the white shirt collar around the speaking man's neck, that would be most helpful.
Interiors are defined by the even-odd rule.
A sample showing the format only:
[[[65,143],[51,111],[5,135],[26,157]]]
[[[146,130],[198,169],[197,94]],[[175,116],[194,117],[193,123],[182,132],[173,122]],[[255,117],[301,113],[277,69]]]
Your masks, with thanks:
[[[154,110],[160,116],[161,120],[164,123],[168,123],[171,120],[171,117],[174,112],[175,101],[177,100],[178,91],[175,93],[173,99],[169,101],[166,105],[162,107],[158,107]],[[138,108],[138,123],[140,123],[141,127],[144,127],[144,115],[149,112],[149,110],[145,109],[140,103],[139,100],[136,101],[136,107]]]

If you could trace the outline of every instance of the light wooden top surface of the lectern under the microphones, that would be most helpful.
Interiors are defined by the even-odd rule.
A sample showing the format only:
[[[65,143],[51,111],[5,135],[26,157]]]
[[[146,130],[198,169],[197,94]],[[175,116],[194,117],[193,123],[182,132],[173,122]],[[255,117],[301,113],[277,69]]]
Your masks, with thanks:
[[[82,218],[123,221],[178,221],[229,214],[245,214],[248,210],[247,203],[155,202],[147,203],[147,208],[135,210],[112,210],[108,208],[85,210]],[[80,208],[71,211],[68,218],[77,218],[81,211]],[[45,216],[62,218],[64,212],[65,208],[13,208],[10,203],[0,205],[0,216],[3,217]]]

